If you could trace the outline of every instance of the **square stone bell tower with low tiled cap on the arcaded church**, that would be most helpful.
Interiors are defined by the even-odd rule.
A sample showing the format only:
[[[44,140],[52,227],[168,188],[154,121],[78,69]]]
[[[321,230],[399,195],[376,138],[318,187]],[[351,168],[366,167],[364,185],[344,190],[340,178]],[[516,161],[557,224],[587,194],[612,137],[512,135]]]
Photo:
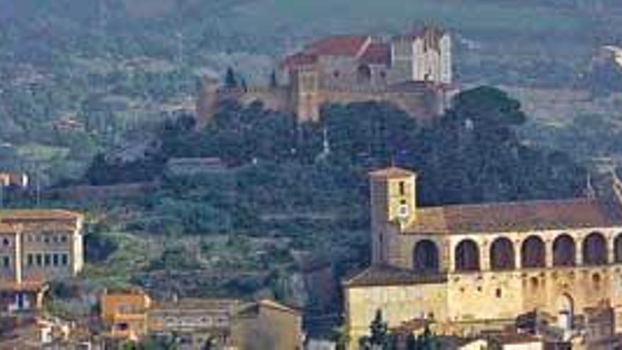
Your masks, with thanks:
[[[416,173],[391,167],[370,173],[372,264],[387,261],[389,226],[399,230],[416,219]]]

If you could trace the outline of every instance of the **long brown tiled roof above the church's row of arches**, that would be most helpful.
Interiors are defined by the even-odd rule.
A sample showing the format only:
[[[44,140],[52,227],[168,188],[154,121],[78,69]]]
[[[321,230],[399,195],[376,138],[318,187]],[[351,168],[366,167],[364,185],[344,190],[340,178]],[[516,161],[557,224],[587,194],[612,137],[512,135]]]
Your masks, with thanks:
[[[406,233],[504,232],[622,225],[619,213],[595,199],[507,202],[417,209]]]

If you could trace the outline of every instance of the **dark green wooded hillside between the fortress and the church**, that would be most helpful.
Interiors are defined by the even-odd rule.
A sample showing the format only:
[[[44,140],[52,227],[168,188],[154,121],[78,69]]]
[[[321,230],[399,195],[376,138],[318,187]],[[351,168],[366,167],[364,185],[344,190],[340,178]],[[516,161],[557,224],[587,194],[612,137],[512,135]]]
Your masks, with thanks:
[[[319,124],[296,124],[260,103],[223,104],[199,129],[187,116],[165,122],[160,147],[144,158],[110,164],[96,157],[87,172],[93,183],[144,174],[160,185],[107,211],[106,220],[117,225],[100,230],[128,234],[93,235],[90,246],[105,264],[89,265],[85,276],[300,301],[295,279],[307,265],[301,257],[331,264],[337,276],[365,264],[367,173],[374,168],[395,163],[417,170],[422,205],[580,194],[585,170],[564,153],[524,144],[517,132],[526,119],[503,91],[481,87],[457,95],[452,110],[426,125],[372,102],[329,105]],[[151,168],[153,159],[213,156],[228,169],[173,176]],[[181,286],[172,287],[172,279]]]

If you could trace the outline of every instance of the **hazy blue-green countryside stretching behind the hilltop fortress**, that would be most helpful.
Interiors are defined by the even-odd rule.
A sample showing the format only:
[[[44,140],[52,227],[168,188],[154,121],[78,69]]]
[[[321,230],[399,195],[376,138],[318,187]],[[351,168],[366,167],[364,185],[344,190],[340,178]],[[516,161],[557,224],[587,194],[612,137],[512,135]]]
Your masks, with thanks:
[[[7,2],[0,168],[26,170],[42,185],[74,180],[95,154],[151,134],[163,110],[187,108],[199,74],[231,66],[228,83],[274,83],[283,52],[330,33],[435,23],[455,33],[461,83],[580,83],[594,50],[621,34],[620,11],[611,0]],[[33,147],[36,155],[22,152]]]

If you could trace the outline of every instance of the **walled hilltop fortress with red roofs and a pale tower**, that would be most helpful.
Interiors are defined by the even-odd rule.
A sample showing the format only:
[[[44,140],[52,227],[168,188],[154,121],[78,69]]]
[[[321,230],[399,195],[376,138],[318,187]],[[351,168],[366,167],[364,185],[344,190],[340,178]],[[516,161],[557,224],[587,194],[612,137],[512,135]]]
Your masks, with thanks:
[[[391,40],[369,35],[323,37],[280,64],[282,83],[225,87],[203,78],[196,111],[209,120],[222,100],[259,100],[266,108],[291,112],[300,122],[317,122],[324,103],[387,101],[422,121],[440,115],[455,91],[451,37],[421,28]]]

